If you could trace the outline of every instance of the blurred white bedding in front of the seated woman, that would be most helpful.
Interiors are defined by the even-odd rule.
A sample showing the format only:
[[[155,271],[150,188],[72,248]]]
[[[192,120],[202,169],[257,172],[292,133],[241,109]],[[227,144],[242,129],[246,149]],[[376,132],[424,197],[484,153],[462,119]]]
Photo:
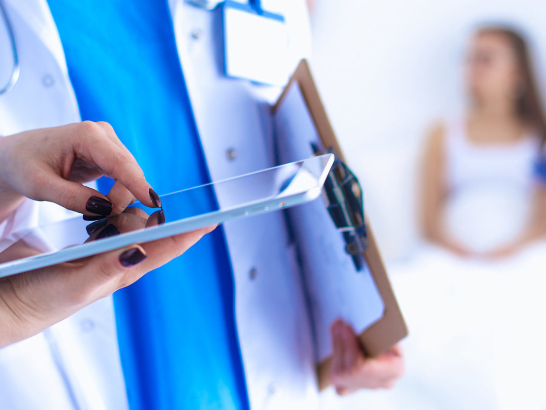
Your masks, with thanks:
[[[388,266],[410,328],[390,391],[322,395],[323,409],[546,409],[546,243],[503,262],[424,246]]]

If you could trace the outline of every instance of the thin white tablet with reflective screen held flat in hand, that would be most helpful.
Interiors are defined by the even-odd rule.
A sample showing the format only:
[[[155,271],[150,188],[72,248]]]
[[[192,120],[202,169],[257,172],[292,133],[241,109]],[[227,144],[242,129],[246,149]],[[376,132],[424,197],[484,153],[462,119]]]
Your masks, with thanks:
[[[137,202],[100,222],[76,216],[11,233],[0,241],[0,277],[312,201],[333,162],[315,156],[162,195],[162,209]]]

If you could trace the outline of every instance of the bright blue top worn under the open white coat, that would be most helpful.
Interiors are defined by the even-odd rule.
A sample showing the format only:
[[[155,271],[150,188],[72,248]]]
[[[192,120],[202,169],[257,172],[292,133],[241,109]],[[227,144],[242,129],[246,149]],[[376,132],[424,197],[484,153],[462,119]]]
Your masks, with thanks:
[[[110,122],[160,195],[209,182],[167,1],[49,5],[82,119]],[[221,229],[114,304],[132,410],[248,408]]]

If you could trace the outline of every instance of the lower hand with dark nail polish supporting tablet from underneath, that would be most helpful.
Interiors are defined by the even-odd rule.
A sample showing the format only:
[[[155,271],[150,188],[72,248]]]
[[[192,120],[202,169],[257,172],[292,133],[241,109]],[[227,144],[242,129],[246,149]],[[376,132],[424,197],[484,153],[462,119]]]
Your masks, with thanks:
[[[138,215],[131,216],[132,220],[126,220],[126,223],[142,220]],[[0,347],[33,336],[88,304],[132,284],[145,273],[183,254],[214,227],[0,279]],[[15,257],[37,252],[25,241],[10,247],[10,255]]]

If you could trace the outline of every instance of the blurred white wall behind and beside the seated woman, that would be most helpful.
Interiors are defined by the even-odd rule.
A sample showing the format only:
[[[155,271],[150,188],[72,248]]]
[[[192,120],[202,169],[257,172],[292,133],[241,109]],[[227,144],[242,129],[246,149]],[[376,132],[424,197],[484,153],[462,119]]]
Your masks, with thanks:
[[[387,260],[411,255],[416,168],[427,127],[464,106],[472,29],[523,30],[546,75],[546,3],[538,0],[315,0],[312,69]]]

